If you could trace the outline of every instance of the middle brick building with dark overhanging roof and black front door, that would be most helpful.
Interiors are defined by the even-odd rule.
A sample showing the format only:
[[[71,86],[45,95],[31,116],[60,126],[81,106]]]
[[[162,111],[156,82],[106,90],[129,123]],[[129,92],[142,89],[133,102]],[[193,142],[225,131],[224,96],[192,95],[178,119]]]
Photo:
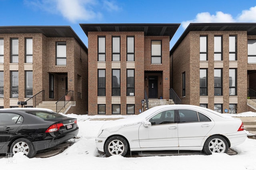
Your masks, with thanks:
[[[144,92],[169,99],[180,24],[80,24],[88,37],[88,114],[138,114]]]

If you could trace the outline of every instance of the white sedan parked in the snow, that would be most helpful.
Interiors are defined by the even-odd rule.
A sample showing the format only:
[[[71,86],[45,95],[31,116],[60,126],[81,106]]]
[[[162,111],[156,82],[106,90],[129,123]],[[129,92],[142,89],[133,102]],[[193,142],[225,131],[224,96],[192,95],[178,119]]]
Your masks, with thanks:
[[[199,106],[164,105],[105,123],[95,140],[98,150],[108,156],[124,156],[128,150],[226,153],[245,139],[244,125],[238,118]]]

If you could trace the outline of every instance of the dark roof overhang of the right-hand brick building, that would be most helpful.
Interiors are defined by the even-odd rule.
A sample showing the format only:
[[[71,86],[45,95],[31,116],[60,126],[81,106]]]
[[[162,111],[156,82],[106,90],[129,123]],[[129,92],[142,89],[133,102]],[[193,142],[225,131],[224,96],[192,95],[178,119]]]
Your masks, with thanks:
[[[256,35],[256,23],[190,23],[170,50],[170,54],[175,51],[190,31],[247,31],[247,35]]]

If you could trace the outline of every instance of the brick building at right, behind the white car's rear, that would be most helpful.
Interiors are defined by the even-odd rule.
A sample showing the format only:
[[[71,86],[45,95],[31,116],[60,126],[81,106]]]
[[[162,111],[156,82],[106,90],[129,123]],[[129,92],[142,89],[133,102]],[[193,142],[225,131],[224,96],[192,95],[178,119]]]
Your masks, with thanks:
[[[256,90],[255,23],[190,23],[170,61],[171,87],[182,104],[221,113],[255,111],[247,104]]]

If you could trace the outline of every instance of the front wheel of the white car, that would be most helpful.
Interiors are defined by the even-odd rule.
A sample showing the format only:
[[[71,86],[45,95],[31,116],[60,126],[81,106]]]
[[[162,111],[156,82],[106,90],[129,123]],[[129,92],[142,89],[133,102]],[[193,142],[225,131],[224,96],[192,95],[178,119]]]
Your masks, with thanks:
[[[104,146],[105,152],[108,156],[111,155],[126,155],[128,151],[128,143],[123,137],[110,137]]]

